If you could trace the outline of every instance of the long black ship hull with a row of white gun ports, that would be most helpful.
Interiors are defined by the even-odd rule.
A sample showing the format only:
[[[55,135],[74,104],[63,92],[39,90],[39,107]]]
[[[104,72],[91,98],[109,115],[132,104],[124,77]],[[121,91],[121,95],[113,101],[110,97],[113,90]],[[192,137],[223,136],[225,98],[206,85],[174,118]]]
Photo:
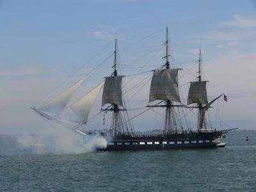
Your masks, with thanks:
[[[217,148],[222,132],[172,134],[168,136],[116,136],[106,148],[99,151],[118,150],[168,150],[182,148]],[[223,147],[223,145],[221,145]]]

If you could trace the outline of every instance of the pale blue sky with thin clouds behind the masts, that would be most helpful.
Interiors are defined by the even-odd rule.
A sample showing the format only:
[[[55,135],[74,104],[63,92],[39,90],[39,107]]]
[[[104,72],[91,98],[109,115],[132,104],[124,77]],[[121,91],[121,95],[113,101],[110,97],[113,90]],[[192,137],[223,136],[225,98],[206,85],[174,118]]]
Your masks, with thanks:
[[[44,122],[29,106],[38,104],[79,67],[85,65],[60,90],[107,58],[115,37],[122,64],[129,65],[150,51],[150,45],[163,44],[166,23],[179,63],[193,65],[202,48],[209,94],[228,95],[224,119],[253,128],[256,1],[2,0],[0,134],[42,129]],[[102,55],[89,61],[104,47]],[[159,58],[150,65],[162,65]],[[104,65],[100,78],[111,72],[112,61]],[[132,65],[143,62],[147,60]]]

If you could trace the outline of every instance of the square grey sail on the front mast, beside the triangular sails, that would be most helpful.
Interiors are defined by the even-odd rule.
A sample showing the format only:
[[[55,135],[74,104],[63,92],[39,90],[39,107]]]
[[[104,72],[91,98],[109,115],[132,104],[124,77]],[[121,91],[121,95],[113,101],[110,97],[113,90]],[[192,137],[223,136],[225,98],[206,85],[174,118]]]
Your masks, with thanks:
[[[123,106],[122,77],[123,76],[106,77],[102,93],[102,106],[107,103]]]

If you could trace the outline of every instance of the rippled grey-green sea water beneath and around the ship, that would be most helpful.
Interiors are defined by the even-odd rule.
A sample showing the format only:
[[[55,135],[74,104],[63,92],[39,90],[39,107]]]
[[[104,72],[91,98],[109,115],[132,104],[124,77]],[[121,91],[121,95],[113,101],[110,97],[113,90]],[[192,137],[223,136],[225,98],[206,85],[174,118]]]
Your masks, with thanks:
[[[5,139],[0,191],[256,191],[256,132],[228,132],[225,142],[200,150],[38,154]]]

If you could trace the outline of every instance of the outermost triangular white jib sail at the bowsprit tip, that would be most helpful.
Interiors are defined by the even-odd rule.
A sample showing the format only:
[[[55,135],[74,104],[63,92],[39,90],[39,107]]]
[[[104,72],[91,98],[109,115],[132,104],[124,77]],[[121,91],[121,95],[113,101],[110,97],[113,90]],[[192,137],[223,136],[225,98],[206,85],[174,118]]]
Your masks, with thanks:
[[[43,104],[38,109],[60,115],[63,109],[67,106],[68,100],[70,100],[73,93],[77,90],[77,88],[79,88],[83,80],[84,78],[80,79],[77,81],[77,83],[73,84],[70,88],[65,90],[65,92],[60,93],[60,95]]]

